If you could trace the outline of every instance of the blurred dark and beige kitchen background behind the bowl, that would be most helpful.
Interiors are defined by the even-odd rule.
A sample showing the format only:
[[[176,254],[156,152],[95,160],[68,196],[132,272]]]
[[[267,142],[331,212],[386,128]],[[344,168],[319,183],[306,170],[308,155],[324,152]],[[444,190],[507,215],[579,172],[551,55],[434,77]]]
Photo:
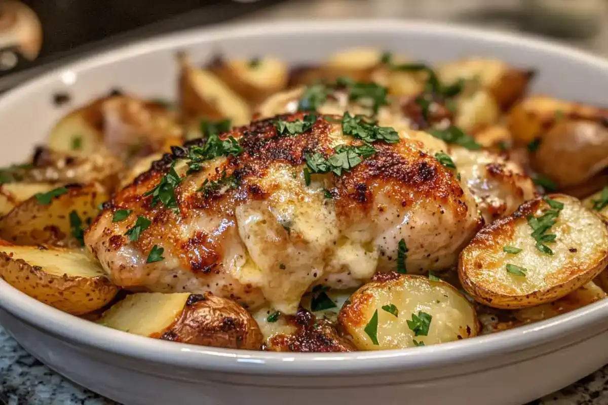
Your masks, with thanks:
[[[608,56],[608,0],[0,0],[0,91],[86,53],[222,22],[402,18],[547,36]]]

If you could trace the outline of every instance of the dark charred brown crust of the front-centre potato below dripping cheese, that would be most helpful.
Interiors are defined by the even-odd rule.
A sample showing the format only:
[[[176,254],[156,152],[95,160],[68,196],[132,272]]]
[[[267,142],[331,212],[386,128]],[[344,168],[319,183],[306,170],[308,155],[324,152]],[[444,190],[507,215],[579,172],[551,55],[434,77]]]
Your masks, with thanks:
[[[285,316],[285,315],[282,315]],[[294,333],[274,335],[263,349],[271,352],[353,352],[356,347],[339,335],[336,327],[326,319],[317,319],[313,313],[300,308],[288,322],[297,327]]]

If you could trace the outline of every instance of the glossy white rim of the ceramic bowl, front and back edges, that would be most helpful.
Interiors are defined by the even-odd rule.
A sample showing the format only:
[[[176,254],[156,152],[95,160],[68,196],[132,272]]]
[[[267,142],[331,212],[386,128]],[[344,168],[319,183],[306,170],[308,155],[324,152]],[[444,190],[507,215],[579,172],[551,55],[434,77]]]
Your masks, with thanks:
[[[176,49],[194,44],[213,43],[218,38],[277,35],[277,33],[315,32],[326,35],[361,32],[386,32],[406,35],[408,32],[434,32],[442,36],[460,36],[474,41],[516,43],[529,49],[559,53],[567,58],[590,64],[608,74],[608,61],[599,56],[568,46],[552,43],[530,35],[494,32],[464,26],[447,26],[437,22],[396,19],[351,20],[295,20],[268,21],[247,24],[223,24],[215,27],[189,29],[184,32],[153,36],[120,46],[94,56],[57,67],[0,97],[0,110],[9,104],[32,95],[39,89],[60,80],[66,70],[103,67],[105,64],[132,58],[153,50]],[[0,307],[45,333],[68,342],[94,347],[117,355],[143,359],[191,369],[262,375],[350,375],[353,373],[389,372],[392,370],[430,369],[476,361],[489,356],[501,356],[558,341],[568,333],[601,326],[594,332],[608,329],[608,299],[595,302],[575,311],[491,335],[477,336],[463,341],[426,347],[375,352],[351,353],[275,353],[237,349],[221,349],[176,342],[160,341],[120,332],[76,316],[63,313],[49,305],[30,298],[0,280]],[[589,339],[592,336],[587,336]]]

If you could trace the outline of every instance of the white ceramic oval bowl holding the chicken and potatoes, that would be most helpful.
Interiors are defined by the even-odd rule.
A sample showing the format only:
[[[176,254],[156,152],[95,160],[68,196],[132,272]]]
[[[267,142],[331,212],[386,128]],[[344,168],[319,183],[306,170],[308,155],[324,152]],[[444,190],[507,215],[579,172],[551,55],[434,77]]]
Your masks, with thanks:
[[[41,141],[67,109],[111,87],[176,94],[174,52],[193,60],[274,54],[320,61],[378,46],[432,62],[496,56],[534,67],[534,90],[606,104],[608,63],[536,39],[403,21],[272,22],[150,39],[50,72],[0,100],[0,162]],[[72,104],[51,103],[67,90]],[[118,332],[47,307],[0,281],[0,321],[32,355],[125,404],[517,404],[560,389],[608,362],[608,300],[537,324],[449,344],[355,353],[215,349]]]

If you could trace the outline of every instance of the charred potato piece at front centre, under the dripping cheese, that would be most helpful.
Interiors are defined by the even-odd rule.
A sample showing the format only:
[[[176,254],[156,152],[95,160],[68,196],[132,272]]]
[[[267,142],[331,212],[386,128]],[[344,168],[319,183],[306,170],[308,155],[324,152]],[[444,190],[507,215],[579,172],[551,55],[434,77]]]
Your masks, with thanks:
[[[352,352],[348,339],[339,335],[334,322],[300,308],[295,315],[262,308],[254,318],[264,335],[264,350],[272,352]]]

